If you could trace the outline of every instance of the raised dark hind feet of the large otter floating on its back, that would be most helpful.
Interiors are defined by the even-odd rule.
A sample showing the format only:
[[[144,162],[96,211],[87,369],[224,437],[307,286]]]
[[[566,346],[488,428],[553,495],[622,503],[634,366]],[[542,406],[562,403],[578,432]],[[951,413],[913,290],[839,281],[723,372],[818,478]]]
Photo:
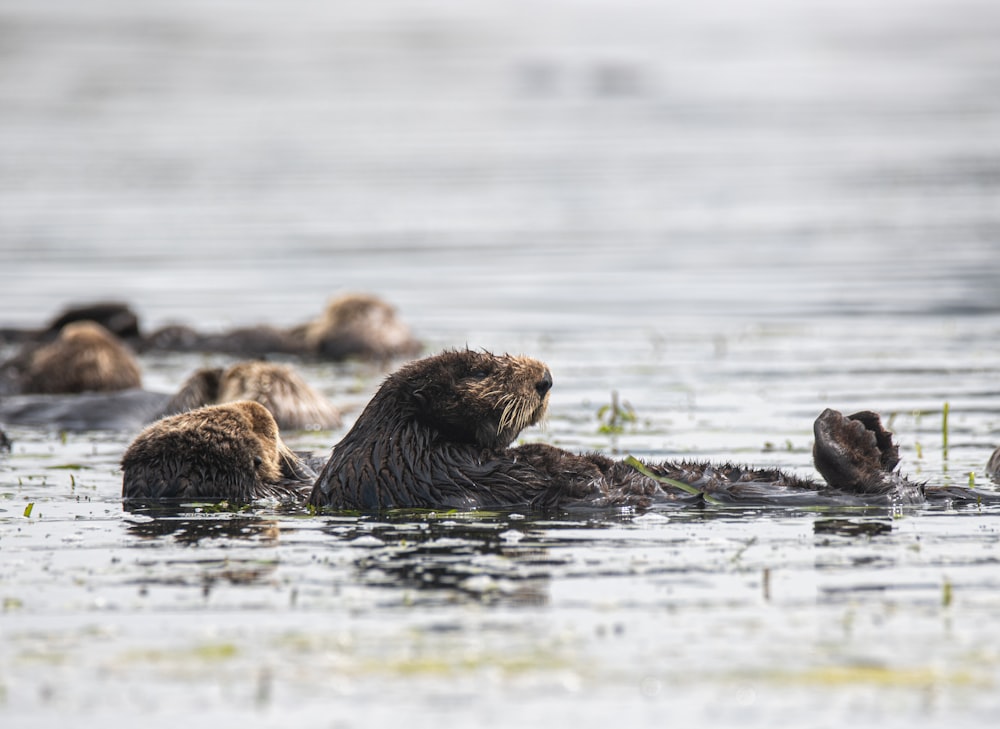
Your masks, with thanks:
[[[813,462],[831,486],[867,487],[899,463],[899,447],[877,413],[844,416],[828,408],[816,418],[813,433]]]

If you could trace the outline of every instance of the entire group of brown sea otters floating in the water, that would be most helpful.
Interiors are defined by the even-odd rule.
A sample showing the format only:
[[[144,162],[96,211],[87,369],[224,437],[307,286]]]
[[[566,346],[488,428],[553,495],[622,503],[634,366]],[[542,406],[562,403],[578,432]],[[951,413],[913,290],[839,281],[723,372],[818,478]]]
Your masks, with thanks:
[[[732,464],[616,460],[543,443],[512,446],[545,415],[548,367],[469,349],[413,359],[420,344],[393,307],[370,295],[334,299],[290,329],[204,334],[171,326],[148,336],[125,304],[63,312],[39,330],[0,329],[20,350],[0,365],[0,424],[142,428],[121,459],[130,504],[262,498],[317,508],[538,510],[738,503],[915,505],[1000,503],[1000,493],[931,486],[896,471],[898,447],[876,413],[824,410],[813,462],[824,482]],[[246,357],[195,371],[173,394],[143,390],[136,353]],[[302,358],[406,359],[389,374],[329,458],[292,451],[281,429],[330,429],[340,413],[288,364]],[[9,441],[0,431],[0,448]],[[1000,449],[987,473],[1000,471]]]

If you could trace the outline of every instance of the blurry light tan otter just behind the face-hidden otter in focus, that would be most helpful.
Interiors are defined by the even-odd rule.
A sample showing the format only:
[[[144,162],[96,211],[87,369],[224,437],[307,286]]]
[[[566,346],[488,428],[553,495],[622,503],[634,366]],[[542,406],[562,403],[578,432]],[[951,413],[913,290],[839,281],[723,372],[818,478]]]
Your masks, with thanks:
[[[284,430],[340,427],[340,413],[289,365],[264,361],[195,371],[164,408],[166,414],[202,405],[253,400]]]

